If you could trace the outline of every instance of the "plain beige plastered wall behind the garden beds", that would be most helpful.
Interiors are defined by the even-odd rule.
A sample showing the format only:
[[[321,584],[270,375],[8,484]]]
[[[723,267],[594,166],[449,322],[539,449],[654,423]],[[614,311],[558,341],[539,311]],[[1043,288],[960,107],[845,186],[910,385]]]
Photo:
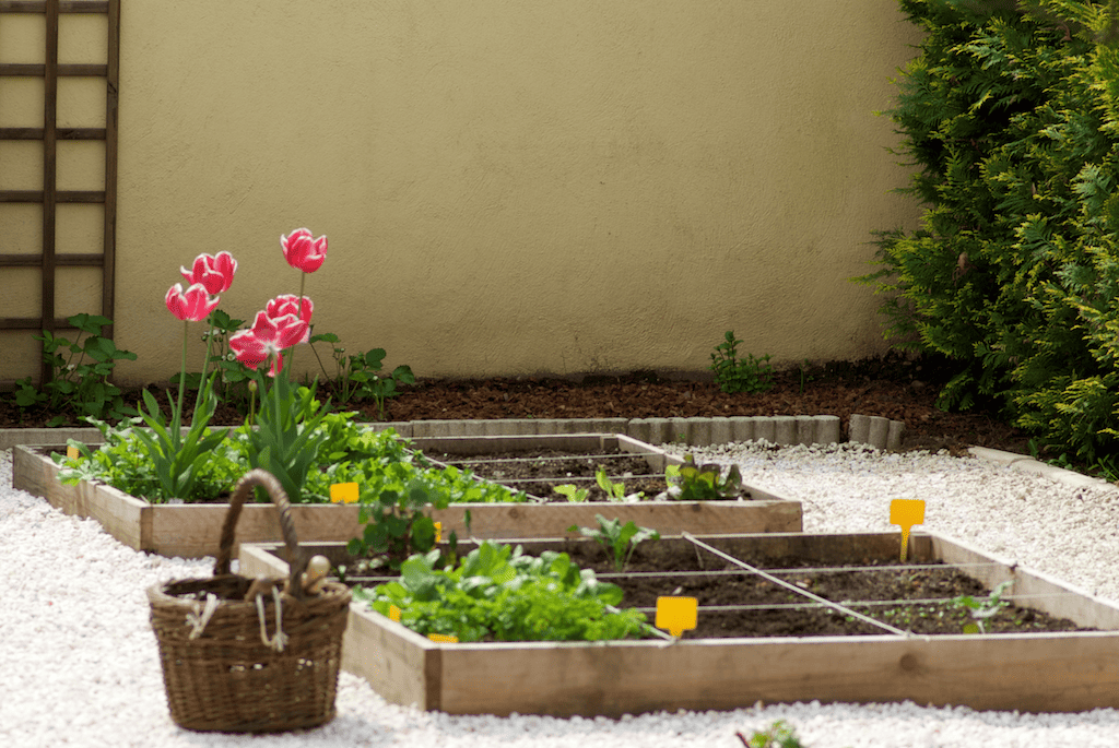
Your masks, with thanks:
[[[847,278],[918,215],[873,114],[916,40],[893,0],[122,6],[124,381],[178,370],[180,265],[233,252],[251,319],[300,226],[316,331],[420,376],[884,350]]]

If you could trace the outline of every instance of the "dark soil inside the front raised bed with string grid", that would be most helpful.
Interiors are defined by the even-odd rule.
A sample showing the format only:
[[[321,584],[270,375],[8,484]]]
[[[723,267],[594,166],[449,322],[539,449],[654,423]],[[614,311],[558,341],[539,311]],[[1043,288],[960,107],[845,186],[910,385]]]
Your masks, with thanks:
[[[581,568],[594,569],[599,579],[620,586],[624,591],[620,607],[646,608],[650,624],[656,619],[653,609],[658,597],[695,597],[699,605],[697,627],[685,632],[684,638],[893,633],[819,605],[817,600],[705,550],[658,548],[650,551],[649,546],[639,546],[622,574],[617,572],[613,561],[600,546],[568,541],[562,550]],[[982,602],[990,591],[972,577],[942,564],[901,565],[894,560],[861,559],[858,565],[837,566],[802,558],[741,560],[799,589],[914,634],[965,633],[965,626],[974,624],[975,618],[969,608],[952,600],[970,596]],[[666,569],[671,571],[666,572]],[[363,584],[374,586],[377,583]],[[867,602],[888,604],[858,604]],[[705,610],[707,606],[752,607]],[[1012,604],[985,618],[984,629],[986,633],[1037,633],[1081,631],[1081,627],[1065,618]]]

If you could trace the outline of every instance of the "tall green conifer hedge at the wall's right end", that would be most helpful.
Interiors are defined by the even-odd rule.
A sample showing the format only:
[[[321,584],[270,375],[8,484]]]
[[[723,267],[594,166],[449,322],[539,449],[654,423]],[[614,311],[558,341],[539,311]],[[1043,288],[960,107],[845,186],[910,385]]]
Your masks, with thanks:
[[[1098,462],[1119,451],[1117,3],[900,4],[924,36],[887,114],[925,211],[857,280],[887,338],[958,362],[942,407]]]

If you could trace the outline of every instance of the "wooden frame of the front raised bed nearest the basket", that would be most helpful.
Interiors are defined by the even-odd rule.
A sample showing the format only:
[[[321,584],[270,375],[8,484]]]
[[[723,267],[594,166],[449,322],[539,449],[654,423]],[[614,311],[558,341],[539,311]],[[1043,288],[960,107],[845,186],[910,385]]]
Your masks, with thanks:
[[[828,564],[896,559],[899,533],[706,537],[747,560],[791,553]],[[687,542],[683,539],[660,542]],[[525,541],[526,550],[547,543]],[[339,546],[304,543],[342,560]],[[241,572],[283,575],[278,547],[245,545]],[[937,636],[818,636],[596,643],[435,644],[350,606],[342,666],[385,699],[452,714],[618,717],[658,710],[735,709],[755,702],[890,702],[972,709],[1081,711],[1119,707],[1119,607],[1044,574],[934,532],[910,539],[912,562],[969,569],[988,588],[1040,595],[1033,607],[1096,632]],[[1050,595],[1060,597],[1047,597]]]

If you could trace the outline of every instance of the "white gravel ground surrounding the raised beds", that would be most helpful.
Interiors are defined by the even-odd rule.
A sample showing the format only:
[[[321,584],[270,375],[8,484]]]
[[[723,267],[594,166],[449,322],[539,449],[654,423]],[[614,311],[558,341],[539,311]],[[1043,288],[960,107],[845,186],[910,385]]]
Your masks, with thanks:
[[[971,540],[1119,599],[1119,487],[1069,485],[944,454],[743,445],[699,451],[735,461],[749,483],[803,501],[807,531],[886,530],[891,499],[921,498],[924,527]],[[1018,714],[913,703],[772,704],[731,712],[606,719],[450,717],[386,703],[342,673],[338,717],[308,732],[228,736],[180,730],[168,716],[144,589],[206,576],[124,548],[91,520],[11,487],[0,453],[0,746],[495,746],[620,748],[742,744],[774,720],[808,748],[1119,746],[1119,710]],[[1119,685],[1117,685],[1119,688]]]

